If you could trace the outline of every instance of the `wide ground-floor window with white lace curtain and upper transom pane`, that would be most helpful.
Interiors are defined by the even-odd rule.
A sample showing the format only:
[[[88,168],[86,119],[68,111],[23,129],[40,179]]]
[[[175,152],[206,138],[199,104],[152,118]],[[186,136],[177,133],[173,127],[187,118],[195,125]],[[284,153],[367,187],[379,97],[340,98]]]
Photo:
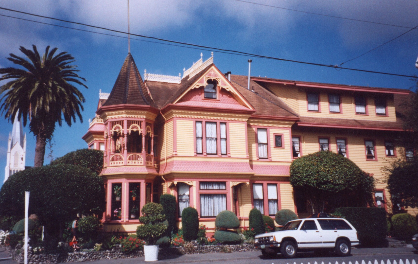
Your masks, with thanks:
[[[200,190],[225,190],[225,182],[200,182]],[[216,217],[220,212],[227,210],[226,193],[201,193],[200,194],[200,216]]]

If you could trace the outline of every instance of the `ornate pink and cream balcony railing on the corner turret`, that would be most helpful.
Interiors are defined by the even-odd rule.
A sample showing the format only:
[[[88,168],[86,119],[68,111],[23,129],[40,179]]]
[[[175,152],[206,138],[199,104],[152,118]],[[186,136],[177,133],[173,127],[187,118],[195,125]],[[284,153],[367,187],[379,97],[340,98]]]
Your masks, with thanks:
[[[106,161],[105,161],[106,163]],[[125,154],[110,154],[109,166],[144,166],[144,154],[143,153],[127,153]],[[158,159],[154,158],[151,154],[145,154],[145,166],[157,167]]]

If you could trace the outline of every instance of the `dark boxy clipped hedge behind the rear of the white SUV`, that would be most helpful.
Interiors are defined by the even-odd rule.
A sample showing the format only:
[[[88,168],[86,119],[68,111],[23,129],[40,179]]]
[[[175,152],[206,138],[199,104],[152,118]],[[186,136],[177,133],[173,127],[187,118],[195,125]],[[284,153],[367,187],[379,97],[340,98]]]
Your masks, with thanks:
[[[379,244],[386,238],[387,222],[384,208],[336,208],[334,215],[344,217],[356,228],[362,244]]]

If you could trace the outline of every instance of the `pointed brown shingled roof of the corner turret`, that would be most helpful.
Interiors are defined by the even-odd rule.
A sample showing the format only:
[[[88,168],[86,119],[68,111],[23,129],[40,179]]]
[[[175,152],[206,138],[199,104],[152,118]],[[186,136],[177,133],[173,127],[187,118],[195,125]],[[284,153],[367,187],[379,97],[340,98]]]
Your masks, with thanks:
[[[130,53],[126,56],[112,92],[103,106],[122,104],[150,105],[156,108]]]

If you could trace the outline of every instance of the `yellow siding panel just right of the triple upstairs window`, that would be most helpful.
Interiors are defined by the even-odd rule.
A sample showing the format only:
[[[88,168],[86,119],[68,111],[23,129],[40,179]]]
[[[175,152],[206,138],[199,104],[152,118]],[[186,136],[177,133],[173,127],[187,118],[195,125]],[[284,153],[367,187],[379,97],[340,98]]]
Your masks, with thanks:
[[[229,149],[231,157],[245,158],[247,156],[245,146],[244,123],[229,123]]]

